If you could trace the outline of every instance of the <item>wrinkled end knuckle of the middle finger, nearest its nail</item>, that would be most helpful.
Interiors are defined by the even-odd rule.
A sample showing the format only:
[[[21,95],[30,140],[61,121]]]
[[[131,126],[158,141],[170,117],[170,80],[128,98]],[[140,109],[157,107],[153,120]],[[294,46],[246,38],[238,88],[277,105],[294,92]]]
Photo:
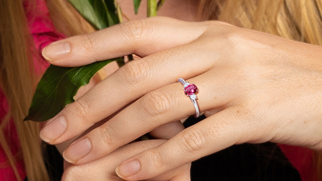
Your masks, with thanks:
[[[72,106],[68,106],[67,108],[72,109],[72,112],[77,116],[80,120],[86,120],[87,117],[89,117],[88,114],[90,114],[89,111],[89,103],[86,99],[80,98],[75,100],[75,102],[72,104]]]

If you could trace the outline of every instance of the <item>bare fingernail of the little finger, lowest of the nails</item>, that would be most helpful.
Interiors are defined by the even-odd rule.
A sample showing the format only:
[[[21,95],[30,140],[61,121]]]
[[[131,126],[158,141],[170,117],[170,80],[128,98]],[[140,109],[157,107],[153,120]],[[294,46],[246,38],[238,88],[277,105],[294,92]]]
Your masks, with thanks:
[[[138,160],[133,160],[125,164],[119,165],[115,172],[120,178],[126,178],[138,173],[141,169],[141,164]]]

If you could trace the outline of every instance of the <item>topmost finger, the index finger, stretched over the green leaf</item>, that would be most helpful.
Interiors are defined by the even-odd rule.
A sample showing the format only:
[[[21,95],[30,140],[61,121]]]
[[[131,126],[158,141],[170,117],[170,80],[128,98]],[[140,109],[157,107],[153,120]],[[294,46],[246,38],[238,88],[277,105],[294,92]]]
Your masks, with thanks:
[[[166,17],[126,21],[90,34],[59,40],[45,47],[42,54],[58,66],[80,66],[129,54],[143,57],[191,42],[205,29],[205,23]]]

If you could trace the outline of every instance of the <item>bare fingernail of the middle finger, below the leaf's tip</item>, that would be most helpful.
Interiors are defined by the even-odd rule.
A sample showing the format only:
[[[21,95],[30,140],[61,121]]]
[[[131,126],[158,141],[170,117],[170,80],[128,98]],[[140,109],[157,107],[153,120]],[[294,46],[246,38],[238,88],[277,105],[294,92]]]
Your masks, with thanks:
[[[40,138],[45,142],[53,142],[62,135],[67,128],[67,122],[63,116],[50,121],[40,132]]]

